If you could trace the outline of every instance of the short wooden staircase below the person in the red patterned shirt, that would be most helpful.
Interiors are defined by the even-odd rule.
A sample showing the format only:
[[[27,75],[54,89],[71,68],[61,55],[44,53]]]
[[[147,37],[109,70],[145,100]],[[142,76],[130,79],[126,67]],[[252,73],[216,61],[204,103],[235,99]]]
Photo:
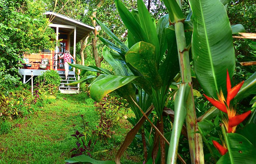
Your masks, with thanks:
[[[76,81],[75,72],[69,71],[68,79],[65,80],[65,71],[58,71],[59,76],[61,78],[59,90],[60,93],[66,93],[66,94],[74,94],[79,92],[79,85],[66,85],[72,82]]]

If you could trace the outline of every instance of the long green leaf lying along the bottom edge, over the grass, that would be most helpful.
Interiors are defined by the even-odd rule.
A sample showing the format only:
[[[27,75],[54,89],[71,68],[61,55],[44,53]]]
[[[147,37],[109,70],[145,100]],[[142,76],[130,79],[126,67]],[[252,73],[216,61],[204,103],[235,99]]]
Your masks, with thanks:
[[[77,162],[89,162],[92,164],[115,164],[113,161],[98,161],[86,155],[79,155],[73,158],[66,159],[65,162],[77,163]]]

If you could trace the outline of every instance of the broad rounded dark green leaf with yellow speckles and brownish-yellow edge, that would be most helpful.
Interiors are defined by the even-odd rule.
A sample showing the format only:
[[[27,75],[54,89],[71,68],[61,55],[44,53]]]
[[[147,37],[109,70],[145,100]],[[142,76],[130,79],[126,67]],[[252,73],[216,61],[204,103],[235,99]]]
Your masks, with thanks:
[[[150,43],[139,42],[132,46],[125,54],[127,63],[136,68],[148,80],[153,88],[162,86],[162,79],[158,74],[155,47]]]

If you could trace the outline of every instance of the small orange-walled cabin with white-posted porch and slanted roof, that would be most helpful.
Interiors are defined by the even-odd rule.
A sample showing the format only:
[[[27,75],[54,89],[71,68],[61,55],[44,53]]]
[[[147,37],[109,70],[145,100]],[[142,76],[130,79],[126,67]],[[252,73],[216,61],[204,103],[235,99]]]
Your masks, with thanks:
[[[77,93],[79,84],[76,86],[66,85],[76,81],[75,68],[69,71],[68,79],[64,80],[63,59],[59,59],[58,55],[62,55],[65,50],[70,50],[70,47],[73,46],[74,53],[72,56],[75,58],[75,44],[94,30],[94,27],[56,12],[48,11],[44,14],[49,18],[49,26],[55,30],[56,40],[61,40],[60,45],[56,46],[54,51],[43,49],[40,53],[23,54],[25,63],[22,64],[22,68],[19,68],[19,73],[23,76],[23,83],[27,83],[31,79],[33,81],[34,76],[39,76],[44,71],[56,70],[62,79],[59,86],[60,92]]]

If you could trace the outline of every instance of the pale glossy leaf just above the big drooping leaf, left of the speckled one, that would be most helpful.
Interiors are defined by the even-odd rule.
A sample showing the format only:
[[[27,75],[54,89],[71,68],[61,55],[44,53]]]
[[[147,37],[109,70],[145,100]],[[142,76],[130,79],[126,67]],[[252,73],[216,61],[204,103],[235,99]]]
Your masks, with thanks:
[[[128,76],[126,67],[112,57],[108,47],[103,47],[102,56],[114,68],[117,76]]]

